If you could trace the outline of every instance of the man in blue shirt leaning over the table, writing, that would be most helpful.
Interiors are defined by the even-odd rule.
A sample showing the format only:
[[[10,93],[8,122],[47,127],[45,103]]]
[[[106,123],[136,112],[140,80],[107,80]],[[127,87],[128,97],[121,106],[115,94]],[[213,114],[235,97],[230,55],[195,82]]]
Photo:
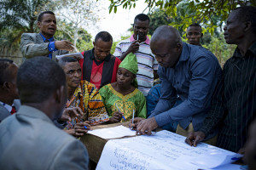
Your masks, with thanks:
[[[137,118],[133,126],[137,133],[149,134],[156,127],[178,122],[176,132],[185,136],[201,127],[207,116],[222,75],[218,59],[206,48],[182,42],[172,26],[158,27],[150,48],[160,64],[161,97],[148,119]]]

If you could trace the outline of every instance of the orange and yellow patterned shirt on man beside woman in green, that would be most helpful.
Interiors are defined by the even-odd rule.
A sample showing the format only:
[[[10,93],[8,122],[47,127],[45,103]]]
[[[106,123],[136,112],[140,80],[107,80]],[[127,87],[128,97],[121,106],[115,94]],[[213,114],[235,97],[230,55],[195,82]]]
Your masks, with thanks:
[[[80,107],[84,115],[76,117],[72,122],[67,122],[67,129],[72,129],[77,122],[89,121],[91,125],[96,125],[109,121],[99,91],[95,85],[85,80],[80,82],[73,97],[67,101],[66,108],[69,107]]]

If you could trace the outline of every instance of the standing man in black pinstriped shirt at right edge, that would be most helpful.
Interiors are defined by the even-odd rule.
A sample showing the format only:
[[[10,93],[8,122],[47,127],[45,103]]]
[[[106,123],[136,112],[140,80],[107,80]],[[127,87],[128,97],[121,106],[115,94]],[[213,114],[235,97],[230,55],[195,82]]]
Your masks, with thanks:
[[[196,146],[218,133],[217,146],[241,151],[248,126],[256,115],[256,8],[235,8],[224,27],[228,44],[236,44],[233,56],[224,65],[224,77],[218,84],[203,126],[189,133],[186,142]]]

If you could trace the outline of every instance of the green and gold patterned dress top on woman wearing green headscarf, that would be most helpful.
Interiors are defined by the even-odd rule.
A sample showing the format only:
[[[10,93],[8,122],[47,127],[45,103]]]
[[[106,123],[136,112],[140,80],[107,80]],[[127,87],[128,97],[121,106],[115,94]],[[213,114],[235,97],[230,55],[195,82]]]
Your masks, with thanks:
[[[115,91],[111,84],[108,84],[100,89],[100,94],[106,110],[108,111],[108,116],[113,116],[113,113],[118,111],[118,108],[124,113],[126,121],[132,118],[133,110],[135,111],[136,117],[146,118],[147,116],[146,99],[143,93],[137,88],[135,88],[131,94],[124,96]],[[122,119],[121,122],[124,122],[124,119]]]

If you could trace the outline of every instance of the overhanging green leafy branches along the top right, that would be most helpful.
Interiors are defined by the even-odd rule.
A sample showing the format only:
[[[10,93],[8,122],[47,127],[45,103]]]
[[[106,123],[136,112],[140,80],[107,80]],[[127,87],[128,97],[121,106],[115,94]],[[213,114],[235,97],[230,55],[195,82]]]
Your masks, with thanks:
[[[116,13],[119,6],[131,8],[137,3],[136,0],[110,0],[110,2],[109,13],[113,11],[113,8],[113,12]],[[172,26],[176,28],[186,28],[196,21],[207,25],[206,29],[211,34],[214,33],[214,28],[218,26],[214,16],[218,16],[220,23],[223,23],[228,18],[230,11],[238,5],[256,6],[255,0],[144,0],[144,2],[148,4],[149,13],[154,12],[155,8],[160,8],[160,10],[165,10],[166,14],[172,18],[179,15],[172,22]],[[177,5],[179,6],[182,3],[185,3],[186,8],[178,9]]]

